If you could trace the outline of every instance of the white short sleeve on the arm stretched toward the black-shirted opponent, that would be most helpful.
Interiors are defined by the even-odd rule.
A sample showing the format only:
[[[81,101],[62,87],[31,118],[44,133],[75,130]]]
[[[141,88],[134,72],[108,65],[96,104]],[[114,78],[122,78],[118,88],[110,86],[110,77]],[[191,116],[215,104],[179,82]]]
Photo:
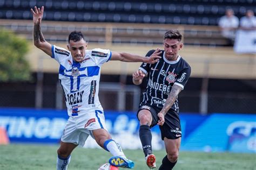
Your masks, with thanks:
[[[103,63],[111,59],[111,51],[109,49],[95,48],[91,50],[91,58],[97,65],[103,65]]]

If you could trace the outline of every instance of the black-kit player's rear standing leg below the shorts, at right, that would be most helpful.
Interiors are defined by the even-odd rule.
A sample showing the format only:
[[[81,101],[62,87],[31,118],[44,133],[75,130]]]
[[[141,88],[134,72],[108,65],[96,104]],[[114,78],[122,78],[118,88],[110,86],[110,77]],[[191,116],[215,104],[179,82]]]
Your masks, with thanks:
[[[167,139],[164,138],[165,150],[167,155],[162,160],[162,165],[159,170],[170,170],[177,163],[179,156],[181,138],[178,139]]]

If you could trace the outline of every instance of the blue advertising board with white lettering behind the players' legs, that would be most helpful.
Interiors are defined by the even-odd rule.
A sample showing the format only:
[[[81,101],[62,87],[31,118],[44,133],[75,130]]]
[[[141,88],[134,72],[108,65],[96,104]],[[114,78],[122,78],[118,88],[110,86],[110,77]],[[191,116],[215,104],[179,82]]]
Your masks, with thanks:
[[[65,110],[0,108],[0,127],[10,142],[59,143],[68,114]],[[141,148],[136,112],[105,111],[106,126],[123,148]],[[256,153],[256,115],[181,113],[181,150]],[[152,128],[154,150],[164,149],[158,126]],[[98,147],[88,139],[85,147]]]

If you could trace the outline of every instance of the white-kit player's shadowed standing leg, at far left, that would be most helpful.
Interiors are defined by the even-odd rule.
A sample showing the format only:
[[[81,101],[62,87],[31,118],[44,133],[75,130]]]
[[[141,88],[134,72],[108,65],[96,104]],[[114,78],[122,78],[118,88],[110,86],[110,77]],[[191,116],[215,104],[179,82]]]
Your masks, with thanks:
[[[69,162],[71,160],[71,152],[77,147],[77,145],[72,143],[64,143],[60,141],[60,147],[57,150],[57,170],[68,169]]]

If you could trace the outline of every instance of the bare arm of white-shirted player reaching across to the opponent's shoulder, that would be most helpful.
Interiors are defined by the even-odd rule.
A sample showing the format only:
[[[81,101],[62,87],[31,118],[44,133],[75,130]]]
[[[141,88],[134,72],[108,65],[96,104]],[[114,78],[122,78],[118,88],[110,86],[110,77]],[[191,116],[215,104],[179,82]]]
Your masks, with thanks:
[[[112,52],[111,60],[119,60],[124,62],[146,62],[146,63],[156,63],[159,61],[161,56],[161,51],[157,49],[150,57],[147,56],[140,56],[136,54],[130,53],[119,53],[119,52]]]

